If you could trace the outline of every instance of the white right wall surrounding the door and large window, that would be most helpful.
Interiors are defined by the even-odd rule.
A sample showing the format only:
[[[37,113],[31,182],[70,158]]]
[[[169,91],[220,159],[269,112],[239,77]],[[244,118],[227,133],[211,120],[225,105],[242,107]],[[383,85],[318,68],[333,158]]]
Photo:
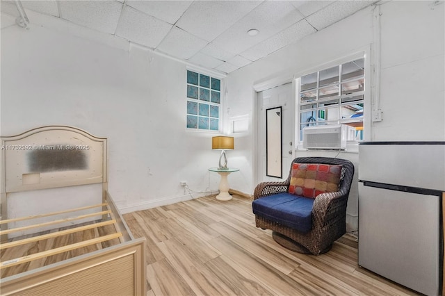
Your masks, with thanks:
[[[371,59],[371,68],[381,63],[380,95],[372,90],[371,103],[383,112],[382,122],[369,121],[366,140],[445,140],[444,105],[444,6],[431,1],[391,1],[380,6],[381,54]],[[229,74],[229,108],[234,116],[248,114],[255,122],[254,85],[267,84],[308,74],[324,64],[368,50],[373,58],[378,45],[378,17],[373,7],[361,10],[341,22],[300,40],[298,44],[271,54]],[[369,58],[368,56],[368,58]],[[378,57],[378,54],[376,55]],[[366,77],[367,85],[375,79]],[[370,104],[366,108],[370,108]],[[368,109],[370,110],[370,109]],[[264,131],[258,131],[259,133]],[[252,171],[245,179],[232,181],[234,188],[252,192],[255,158],[255,131],[245,135],[252,151],[248,163],[234,163],[241,170]],[[296,151],[296,156],[334,156],[333,152]],[[359,170],[357,153],[342,153]],[[357,181],[357,176],[355,176]],[[348,228],[357,229],[358,189],[353,183],[348,200]]]

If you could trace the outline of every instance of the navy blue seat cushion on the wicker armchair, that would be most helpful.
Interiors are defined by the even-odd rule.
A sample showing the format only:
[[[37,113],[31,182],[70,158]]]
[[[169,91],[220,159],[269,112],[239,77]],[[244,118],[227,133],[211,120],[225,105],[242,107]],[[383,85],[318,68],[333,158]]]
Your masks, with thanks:
[[[255,199],[252,210],[255,215],[307,233],[312,228],[314,201],[312,198],[283,192]]]

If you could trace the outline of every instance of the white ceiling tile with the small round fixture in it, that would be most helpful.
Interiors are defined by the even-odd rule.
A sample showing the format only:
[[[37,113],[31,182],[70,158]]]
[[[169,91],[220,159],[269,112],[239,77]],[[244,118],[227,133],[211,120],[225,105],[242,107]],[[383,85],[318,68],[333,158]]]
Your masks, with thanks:
[[[235,54],[245,51],[302,19],[302,14],[287,1],[264,1],[241,21],[234,24],[213,43]],[[249,36],[251,28],[259,34]]]

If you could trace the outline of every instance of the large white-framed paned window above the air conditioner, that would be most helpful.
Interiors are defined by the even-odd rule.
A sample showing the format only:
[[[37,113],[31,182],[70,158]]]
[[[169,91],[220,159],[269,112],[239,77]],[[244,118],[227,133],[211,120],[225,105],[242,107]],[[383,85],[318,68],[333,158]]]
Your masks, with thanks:
[[[298,90],[300,141],[306,126],[347,124],[363,140],[364,58],[301,76]]]

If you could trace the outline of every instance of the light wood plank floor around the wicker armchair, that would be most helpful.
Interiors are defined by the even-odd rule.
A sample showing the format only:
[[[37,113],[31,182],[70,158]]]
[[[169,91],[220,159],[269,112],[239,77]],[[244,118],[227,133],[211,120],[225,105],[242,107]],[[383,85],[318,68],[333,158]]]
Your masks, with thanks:
[[[359,268],[352,236],[321,256],[284,249],[254,226],[244,197],[202,197],[124,219],[147,238],[147,295],[416,295]]]

